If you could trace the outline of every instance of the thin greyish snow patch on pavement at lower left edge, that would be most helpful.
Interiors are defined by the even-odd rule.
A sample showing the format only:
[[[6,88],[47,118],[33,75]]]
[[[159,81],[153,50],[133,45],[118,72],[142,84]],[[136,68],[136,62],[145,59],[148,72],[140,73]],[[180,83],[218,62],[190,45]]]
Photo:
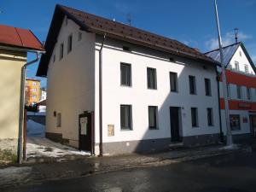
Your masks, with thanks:
[[[10,166],[4,169],[0,169],[0,185],[19,183],[24,181],[32,173],[32,167],[22,166],[15,167]]]

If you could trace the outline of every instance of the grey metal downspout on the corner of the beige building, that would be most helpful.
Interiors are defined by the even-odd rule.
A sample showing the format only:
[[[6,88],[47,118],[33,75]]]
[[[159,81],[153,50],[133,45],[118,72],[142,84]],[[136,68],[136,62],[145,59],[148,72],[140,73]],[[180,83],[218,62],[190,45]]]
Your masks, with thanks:
[[[42,51],[43,52],[43,51]],[[26,62],[21,67],[21,82],[20,82],[20,118],[19,118],[19,138],[18,138],[18,163],[22,163],[23,154],[23,126],[24,126],[24,108],[25,108],[25,82],[26,82],[26,67],[32,65],[39,60],[41,51],[36,52],[36,59]]]

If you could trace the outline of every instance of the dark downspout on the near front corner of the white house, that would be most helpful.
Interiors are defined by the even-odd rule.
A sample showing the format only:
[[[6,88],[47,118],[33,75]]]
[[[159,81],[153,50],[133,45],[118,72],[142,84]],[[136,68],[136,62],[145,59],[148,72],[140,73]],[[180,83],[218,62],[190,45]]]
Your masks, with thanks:
[[[103,147],[102,147],[102,143],[103,143],[103,139],[102,139],[102,49],[103,49],[103,45],[106,39],[106,33],[103,36],[102,39],[102,45],[101,45],[101,49],[100,49],[100,53],[99,53],[99,128],[100,128],[100,154],[99,156],[103,155]]]

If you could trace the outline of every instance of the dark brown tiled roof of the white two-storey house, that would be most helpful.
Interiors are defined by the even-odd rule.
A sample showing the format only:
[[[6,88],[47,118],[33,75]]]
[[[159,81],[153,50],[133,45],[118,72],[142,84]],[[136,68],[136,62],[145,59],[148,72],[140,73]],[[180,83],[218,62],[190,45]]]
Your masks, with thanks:
[[[213,61],[212,58],[207,55],[203,55],[198,50],[190,48],[171,38],[165,38],[152,32],[146,32],[133,26],[85,13],[84,11],[56,5],[54,18],[49,28],[49,34],[45,44],[46,55],[42,56],[39,63],[38,76],[47,75],[49,58],[54,47],[54,44],[51,41],[53,41],[52,38],[57,38],[56,33],[60,30],[64,15],[67,15],[69,19],[76,22],[84,31],[94,32],[96,34],[106,34],[107,37],[117,38],[131,44],[139,44],[174,55],[181,55],[193,60],[217,64],[216,61]]]

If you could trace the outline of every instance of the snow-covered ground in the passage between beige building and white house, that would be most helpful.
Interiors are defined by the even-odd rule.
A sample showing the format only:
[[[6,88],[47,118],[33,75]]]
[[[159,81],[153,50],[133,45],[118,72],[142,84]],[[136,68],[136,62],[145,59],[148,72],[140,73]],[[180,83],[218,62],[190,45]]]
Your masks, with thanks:
[[[90,155],[89,152],[79,151],[75,148],[55,143],[45,138],[45,126],[31,119],[27,121],[27,158],[53,157],[60,158],[67,155]]]

